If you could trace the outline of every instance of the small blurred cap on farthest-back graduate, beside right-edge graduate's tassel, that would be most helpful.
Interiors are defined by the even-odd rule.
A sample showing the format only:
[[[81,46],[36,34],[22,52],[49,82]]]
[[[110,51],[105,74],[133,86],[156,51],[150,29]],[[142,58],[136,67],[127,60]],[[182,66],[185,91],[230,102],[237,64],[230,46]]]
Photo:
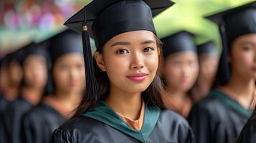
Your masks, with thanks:
[[[217,46],[214,44],[214,41],[207,41],[197,46],[197,53],[199,56],[201,54],[217,53]]]

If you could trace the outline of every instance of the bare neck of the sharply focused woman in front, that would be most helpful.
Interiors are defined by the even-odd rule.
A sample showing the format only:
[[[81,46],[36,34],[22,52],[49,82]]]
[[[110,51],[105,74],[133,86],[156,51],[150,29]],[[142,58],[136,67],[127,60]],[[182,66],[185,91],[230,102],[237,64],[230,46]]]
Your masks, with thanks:
[[[115,112],[129,119],[136,119],[141,111],[141,92],[128,93],[110,85],[110,94],[104,102]]]

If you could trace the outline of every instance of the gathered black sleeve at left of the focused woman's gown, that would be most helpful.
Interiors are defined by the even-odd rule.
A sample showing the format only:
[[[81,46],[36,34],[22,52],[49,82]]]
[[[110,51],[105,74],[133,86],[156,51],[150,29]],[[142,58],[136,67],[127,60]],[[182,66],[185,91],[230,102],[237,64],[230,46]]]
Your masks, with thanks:
[[[75,143],[74,139],[62,129],[55,129],[49,143]]]

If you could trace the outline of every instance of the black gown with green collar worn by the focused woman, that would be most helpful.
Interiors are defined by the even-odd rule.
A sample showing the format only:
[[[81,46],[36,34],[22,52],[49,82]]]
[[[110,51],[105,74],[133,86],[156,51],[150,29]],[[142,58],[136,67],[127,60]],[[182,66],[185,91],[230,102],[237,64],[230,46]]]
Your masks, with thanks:
[[[145,104],[143,127],[140,131],[129,127],[104,102],[85,114],[74,117],[56,129],[52,143],[97,142],[194,142],[194,135],[186,120],[179,114]]]

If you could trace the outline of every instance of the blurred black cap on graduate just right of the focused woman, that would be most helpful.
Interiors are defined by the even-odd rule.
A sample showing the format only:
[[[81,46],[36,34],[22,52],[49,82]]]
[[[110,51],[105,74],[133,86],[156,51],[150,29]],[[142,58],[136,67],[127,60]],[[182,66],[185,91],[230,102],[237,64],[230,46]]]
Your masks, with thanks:
[[[194,42],[194,34],[189,31],[179,31],[171,36],[161,39],[163,41],[163,57],[181,51],[196,52],[196,44]]]

